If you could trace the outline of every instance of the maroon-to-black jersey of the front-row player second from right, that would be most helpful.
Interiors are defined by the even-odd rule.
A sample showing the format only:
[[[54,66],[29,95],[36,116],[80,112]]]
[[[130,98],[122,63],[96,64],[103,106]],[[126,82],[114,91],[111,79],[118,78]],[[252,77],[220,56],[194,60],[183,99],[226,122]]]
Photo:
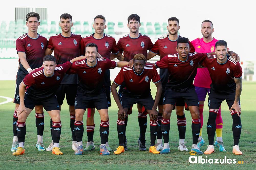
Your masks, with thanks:
[[[186,91],[194,86],[193,80],[196,76],[198,62],[206,57],[207,53],[194,52],[189,53],[186,61],[180,61],[177,53],[163,57],[155,65],[160,69],[168,69],[170,75],[166,89]]]

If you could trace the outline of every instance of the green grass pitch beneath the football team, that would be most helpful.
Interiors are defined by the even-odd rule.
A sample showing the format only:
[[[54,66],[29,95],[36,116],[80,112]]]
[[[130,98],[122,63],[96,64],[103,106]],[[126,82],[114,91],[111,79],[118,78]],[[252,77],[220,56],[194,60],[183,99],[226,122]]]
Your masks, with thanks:
[[[0,81],[1,89],[0,96],[6,96],[13,98],[15,81]],[[170,149],[171,152],[166,155],[154,155],[148,151],[138,151],[137,138],[140,130],[137,120],[136,106],[133,108],[133,114],[129,115],[128,125],[126,129],[129,151],[125,151],[121,155],[114,155],[111,152],[110,156],[102,156],[99,154],[100,135],[99,124],[100,118],[98,112],[95,113],[95,131],[94,142],[96,144],[95,151],[85,152],[84,155],[74,155],[74,151],[71,149],[71,132],[69,127],[69,111],[67,104],[63,104],[61,111],[62,132],[60,139],[60,148],[64,153],[63,155],[52,155],[51,152],[39,152],[37,151],[35,144],[37,141],[37,132],[35,126],[35,112],[32,111],[26,121],[27,134],[25,139],[26,154],[22,156],[13,156],[10,151],[12,144],[12,119],[14,104],[12,102],[0,105],[0,169],[255,169],[256,163],[256,135],[255,135],[255,120],[256,112],[254,104],[256,103],[255,82],[244,82],[243,91],[241,95],[241,107],[242,107],[242,134],[240,138],[240,149],[243,155],[233,155],[233,134],[232,134],[232,118],[230,116],[226,102],[222,103],[222,118],[223,118],[223,141],[225,142],[225,148],[227,153],[220,153],[215,148],[215,153],[208,155],[208,158],[227,158],[236,159],[236,161],[243,161],[243,164],[190,164],[188,162],[189,152],[178,151],[178,129],[177,129],[177,117],[175,112],[171,116],[170,127]],[[156,88],[152,84],[152,94],[154,95]],[[4,101],[0,99],[0,101]],[[64,102],[65,103],[65,102]],[[118,136],[116,130],[118,108],[112,98],[112,107],[109,109],[110,117],[110,135],[109,144],[114,150],[118,147]],[[191,135],[191,116],[188,111],[186,112],[187,118],[187,130],[186,130],[186,146],[188,149],[192,145]],[[204,126],[203,126],[203,138],[208,144],[208,138],[206,133],[206,122],[208,120],[208,108],[207,103],[204,108]],[[86,119],[84,119],[86,121]],[[149,119],[148,119],[149,123]],[[45,112],[45,130],[44,130],[44,144],[48,147],[50,137],[50,117]],[[147,127],[146,133],[146,147],[150,145],[150,129]],[[84,133],[84,141],[87,139],[86,130]],[[206,146],[203,146],[202,151],[206,150]],[[206,158],[206,155],[202,155]]]

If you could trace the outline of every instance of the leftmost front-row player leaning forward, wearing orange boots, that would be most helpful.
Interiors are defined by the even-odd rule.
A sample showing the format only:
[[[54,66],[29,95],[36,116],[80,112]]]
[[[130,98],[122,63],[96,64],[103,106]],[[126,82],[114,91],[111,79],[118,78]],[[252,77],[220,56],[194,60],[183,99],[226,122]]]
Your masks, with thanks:
[[[53,121],[52,136],[54,148],[52,149],[52,154],[63,154],[59,149],[61,132],[60,108],[54,94],[64,74],[71,67],[72,63],[83,58],[85,57],[77,57],[57,66],[54,56],[47,55],[43,59],[43,67],[27,74],[20,83],[20,106],[17,111],[17,136],[19,147],[16,152],[13,152],[13,155],[22,155],[25,153],[26,119],[37,105],[42,105]]]

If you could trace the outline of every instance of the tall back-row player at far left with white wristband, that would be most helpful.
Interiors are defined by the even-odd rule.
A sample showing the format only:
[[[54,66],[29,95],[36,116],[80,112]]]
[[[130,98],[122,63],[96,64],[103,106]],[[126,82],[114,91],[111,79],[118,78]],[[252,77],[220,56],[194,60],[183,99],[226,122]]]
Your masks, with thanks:
[[[14,96],[15,110],[13,114],[13,145],[12,152],[15,152],[18,147],[17,138],[17,109],[20,105],[19,84],[22,82],[26,74],[31,73],[32,69],[42,66],[42,61],[45,55],[47,39],[37,33],[40,16],[35,12],[29,12],[26,15],[26,25],[28,33],[23,34],[16,40],[16,49],[19,56],[19,70],[16,79],[16,92]],[[35,106],[36,112],[36,127],[37,127],[37,143],[38,151],[44,151],[43,132],[44,132],[44,110],[42,106]]]

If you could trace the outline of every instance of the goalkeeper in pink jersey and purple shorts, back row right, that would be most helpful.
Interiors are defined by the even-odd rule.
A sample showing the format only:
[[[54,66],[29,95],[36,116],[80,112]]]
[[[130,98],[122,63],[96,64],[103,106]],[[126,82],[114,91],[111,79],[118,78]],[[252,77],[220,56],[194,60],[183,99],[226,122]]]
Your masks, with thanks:
[[[212,37],[212,33],[214,32],[213,24],[210,20],[205,20],[201,24],[201,33],[203,35],[202,38],[196,38],[191,41],[194,45],[197,53],[211,53],[215,50],[215,43],[218,41],[214,37]],[[229,51],[229,54],[232,56],[236,56],[237,54]],[[231,58],[230,58],[231,59]],[[231,59],[232,60],[232,59]],[[204,145],[205,141],[202,138],[202,126],[204,123],[203,119],[203,110],[204,110],[204,102],[206,98],[206,94],[209,94],[210,91],[211,78],[209,75],[209,71],[207,68],[198,68],[197,74],[194,80],[194,85],[197,93],[197,97],[199,100],[199,112],[200,112],[200,120],[201,120],[201,129],[198,138],[198,147]],[[219,151],[226,152],[222,140],[222,125],[223,120],[221,117],[221,109],[219,108],[217,117],[216,117],[216,141],[214,145],[219,148]]]

